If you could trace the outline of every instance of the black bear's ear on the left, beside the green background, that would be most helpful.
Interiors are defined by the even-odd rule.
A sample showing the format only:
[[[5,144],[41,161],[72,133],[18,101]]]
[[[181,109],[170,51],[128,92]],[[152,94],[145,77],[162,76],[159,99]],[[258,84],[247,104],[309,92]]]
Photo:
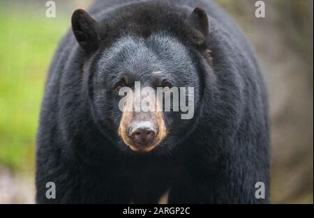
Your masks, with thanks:
[[[82,9],[72,15],[72,30],[77,42],[85,52],[93,52],[98,47],[98,22]]]

